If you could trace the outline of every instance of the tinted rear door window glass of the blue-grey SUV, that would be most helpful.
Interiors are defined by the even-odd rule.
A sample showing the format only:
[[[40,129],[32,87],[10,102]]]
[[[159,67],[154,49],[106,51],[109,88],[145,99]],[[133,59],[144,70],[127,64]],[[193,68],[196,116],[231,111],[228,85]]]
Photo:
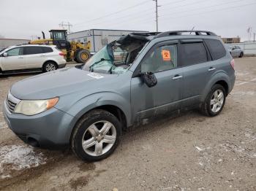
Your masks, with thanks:
[[[182,66],[189,66],[204,62],[207,62],[207,52],[203,42],[181,44]]]

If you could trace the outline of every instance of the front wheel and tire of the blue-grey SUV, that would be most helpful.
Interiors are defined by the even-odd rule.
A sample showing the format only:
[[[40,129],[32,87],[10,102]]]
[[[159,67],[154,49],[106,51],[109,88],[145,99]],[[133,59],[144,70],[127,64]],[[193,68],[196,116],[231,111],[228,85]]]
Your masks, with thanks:
[[[97,109],[83,116],[71,137],[72,151],[82,160],[102,160],[113,153],[121,136],[121,122],[105,110]]]

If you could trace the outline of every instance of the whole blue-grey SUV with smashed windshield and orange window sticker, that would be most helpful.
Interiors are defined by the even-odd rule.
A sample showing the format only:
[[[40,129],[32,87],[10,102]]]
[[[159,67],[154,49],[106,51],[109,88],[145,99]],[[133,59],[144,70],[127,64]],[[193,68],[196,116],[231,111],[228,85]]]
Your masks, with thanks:
[[[16,82],[4,116],[34,147],[70,145],[83,160],[102,160],[123,129],[143,120],[195,107],[216,116],[235,78],[233,58],[212,32],[129,34],[84,65]]]

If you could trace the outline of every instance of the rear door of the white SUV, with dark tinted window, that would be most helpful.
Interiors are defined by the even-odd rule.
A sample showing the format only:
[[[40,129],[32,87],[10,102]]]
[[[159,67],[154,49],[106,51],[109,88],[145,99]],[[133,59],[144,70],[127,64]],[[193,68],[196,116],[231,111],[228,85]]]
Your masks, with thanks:
[[[24,58],[26,60],[26,69],[40,69],[45,62],[45,55],[42,47],[39,46],[24,47]]]

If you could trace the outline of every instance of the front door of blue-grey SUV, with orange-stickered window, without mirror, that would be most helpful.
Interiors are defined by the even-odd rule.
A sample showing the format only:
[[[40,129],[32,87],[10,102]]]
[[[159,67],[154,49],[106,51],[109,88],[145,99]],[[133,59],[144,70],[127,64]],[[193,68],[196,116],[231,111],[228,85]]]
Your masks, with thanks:
[[[154,45],[136,71],[154,73],[157,85],[148,87],[140,76],[132,78],[131,105],[134,120],[166,114],[180,107],[183,74],[178,69],[176,42]]]

